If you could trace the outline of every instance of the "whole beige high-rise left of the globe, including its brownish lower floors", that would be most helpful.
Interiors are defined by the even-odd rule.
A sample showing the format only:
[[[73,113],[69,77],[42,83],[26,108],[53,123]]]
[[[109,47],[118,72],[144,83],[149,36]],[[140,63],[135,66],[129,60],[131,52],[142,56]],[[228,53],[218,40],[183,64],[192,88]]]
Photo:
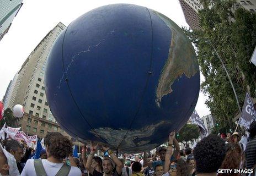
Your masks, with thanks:
[[[23,118],[15,119],[13,127],[21,127],[26,134],[38,135],[39,139],[44,138],[49,131],[69,136],[52,116],[46,100],[44,85],[45,67],[50,50],[65,27],[62,23],[58,23],[48,32],[26,58],[7,90],[6,108],[13,109],[14,105],[19,104],[23,105],[25,112]],[[69,138],[71,139],[70,136]]]

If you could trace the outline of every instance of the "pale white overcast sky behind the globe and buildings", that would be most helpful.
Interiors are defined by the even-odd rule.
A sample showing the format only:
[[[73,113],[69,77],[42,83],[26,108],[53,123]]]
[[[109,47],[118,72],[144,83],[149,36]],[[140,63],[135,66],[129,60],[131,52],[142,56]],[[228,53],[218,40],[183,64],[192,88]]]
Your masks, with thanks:
[[[130,3],[157,10],[180,27],[188,26],[178,0],[25,0],[23,3],[8,33],[0,41],[0,100],[6,92],[9,81],[13,79],[31,51],[60,21],[67,26],[71,21],[94,8],[115,3]],[[201,75],[201,81],[202,79]],[[210,113],[204,104],[205,100],[206,97],[200,92],[196,105],[200,117]]]

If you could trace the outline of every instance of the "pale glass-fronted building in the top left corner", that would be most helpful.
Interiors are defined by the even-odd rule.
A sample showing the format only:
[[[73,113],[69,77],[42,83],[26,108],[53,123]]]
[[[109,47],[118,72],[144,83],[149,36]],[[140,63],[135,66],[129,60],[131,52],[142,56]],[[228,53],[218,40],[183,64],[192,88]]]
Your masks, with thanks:
[[[8,32],[23,0],[0,0],[0,40]]]

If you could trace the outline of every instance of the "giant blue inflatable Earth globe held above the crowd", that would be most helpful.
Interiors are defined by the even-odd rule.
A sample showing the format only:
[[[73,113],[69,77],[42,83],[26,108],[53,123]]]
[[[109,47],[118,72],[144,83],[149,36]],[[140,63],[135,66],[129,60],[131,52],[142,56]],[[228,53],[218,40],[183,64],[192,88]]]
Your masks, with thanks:
[[[138,153],[187,122],[200,74],[193,46],[172,20],[146,7],[111,4],[62,31],[45,85],[51,112],[68,134]]]

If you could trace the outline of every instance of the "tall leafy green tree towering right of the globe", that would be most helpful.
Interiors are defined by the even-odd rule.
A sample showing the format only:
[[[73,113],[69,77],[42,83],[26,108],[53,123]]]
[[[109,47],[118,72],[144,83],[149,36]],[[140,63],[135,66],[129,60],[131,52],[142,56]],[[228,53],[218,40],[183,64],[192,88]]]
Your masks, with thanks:
[[[204,4],[204,9],[199,11],[201,30],[184,31],[196,47],[200,70],[205,77],[201,91],[209,97],[205,102],[207,107],[216,118],[219,129],[234,129],[232,119],[238,107],[214,48],[230,74],[242,107],[246,92],[255,97],[256,67],[249,59],[256,45],[256,14],[239,7],[235,0],[200,2]]]

